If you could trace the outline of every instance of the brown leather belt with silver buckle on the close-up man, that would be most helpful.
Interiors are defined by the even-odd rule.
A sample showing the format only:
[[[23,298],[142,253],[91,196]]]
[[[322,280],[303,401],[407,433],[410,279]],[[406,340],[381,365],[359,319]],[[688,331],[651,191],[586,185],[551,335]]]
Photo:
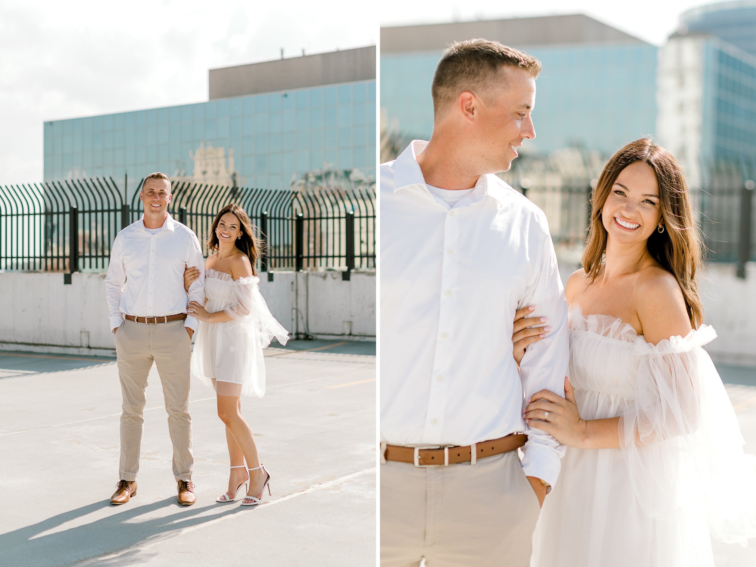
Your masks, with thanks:
[[[386,445],[383,457],[398,463],[412,463],[414,466],[445,466],[457,463],[475,463],[478,459],[509,453],[525,445],[528,435],[513,433],[506,437],[482,441],[466,447],[455,445],[422,445],[420,447],[398,447]],[[474,457],[473,457],[474,455]]]

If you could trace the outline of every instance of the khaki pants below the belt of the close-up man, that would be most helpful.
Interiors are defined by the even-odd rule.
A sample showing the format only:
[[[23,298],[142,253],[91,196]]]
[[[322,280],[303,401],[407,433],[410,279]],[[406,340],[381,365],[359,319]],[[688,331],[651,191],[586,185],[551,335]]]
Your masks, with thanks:
[[[380,466],[382,567],[527,567],[541,508],[517,451],[420,469]]]

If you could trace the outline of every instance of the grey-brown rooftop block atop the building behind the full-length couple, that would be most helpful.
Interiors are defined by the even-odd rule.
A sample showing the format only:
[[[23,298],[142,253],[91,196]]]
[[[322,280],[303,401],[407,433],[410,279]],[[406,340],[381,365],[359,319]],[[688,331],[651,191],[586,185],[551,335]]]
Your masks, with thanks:
[[[330,51],[210,70],[210,100],[376,78],[376,48]]]

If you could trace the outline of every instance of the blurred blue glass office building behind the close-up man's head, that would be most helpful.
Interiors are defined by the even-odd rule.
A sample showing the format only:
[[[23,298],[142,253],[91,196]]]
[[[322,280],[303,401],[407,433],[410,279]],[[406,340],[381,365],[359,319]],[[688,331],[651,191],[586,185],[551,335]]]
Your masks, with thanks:
[[[658,48],[583,17],[586,26],[569,37],[545,43],[554,24],[570,17],[502,20],[507,25],[531,23],[531,38],[543,36],[544,43],[505,29],[485,29],[492,22],[467,23],[466,28],[445,32],[446,41],[485,37],[496,39],[538,57],[543,64],[536,82],[538,94],[533,112],[536,138],[523,145],[525,153],[548,154],[563,147],[584,147],[609,155],[628,141],[655,134],[656,73]],[[476,25],[477,24],[477,25]],[[411,26],[439,35],[438,26]],[[603,33],[596,40],[596,30]],[[423,30],[420,30],[421,32]],[[534,33],[533,33],[534,32]],[[494,33],[500,35],[493,36]],[[609,35],[609,37],[606,37]],[[382,39],[383,41],[383,39]],[[430,41],[428,41],[430,43]],[[430,95],[433,73],[442,49],[432,51],[381,52],[381,109],[387,129],[404,138],[428,139],[433,129]],[[417,45],[411,48],[417,48]]]

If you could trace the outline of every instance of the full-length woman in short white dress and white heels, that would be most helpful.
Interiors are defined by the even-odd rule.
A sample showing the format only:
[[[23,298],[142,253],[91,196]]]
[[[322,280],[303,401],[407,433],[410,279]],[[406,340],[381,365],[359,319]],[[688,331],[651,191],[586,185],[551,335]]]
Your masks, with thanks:
[[[253,506],[262,500],[266,486],[270,494],[271,476],[259,461],[252,429],[241,415],[240,396],[265,395],[262,349],[274,336],[286,344],[288,333],[260,295],[255,269],[260,243],[240,206],[227,205],[218,212],[207,247],[212,255],[205,265],[205,305],[193,301],[187,308],[200,320],[191,375],[215,389],[218,417],[226,426],[231,475],[228,491],[216,501],[235,500],[239,488],[249,482],[242,506]],[[197,268],[187,268],[184,287],[188,290],[198,276]]]

